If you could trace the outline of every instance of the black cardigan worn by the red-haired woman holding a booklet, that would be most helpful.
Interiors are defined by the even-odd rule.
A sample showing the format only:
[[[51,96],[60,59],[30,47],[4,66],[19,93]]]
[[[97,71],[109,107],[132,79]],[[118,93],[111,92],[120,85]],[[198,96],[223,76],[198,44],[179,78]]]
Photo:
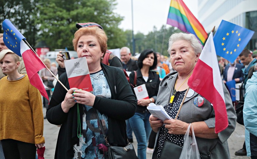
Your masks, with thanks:
[[[122,70],[116,67],[106,66],[101,63],[102,70],[106,76],[111,90],[111,99],[97,97],[94,101],[94,108],[108,116],[108,142],[111,145],[125,146],[127,144],[125,120],[135,114],[136,101]],[[70,89],[68,77],[63,73],[59,80]],[[68,159],[74,156],[73,145],[79,142],[77,136],[78,114],[77,103],[69,110],[63,112],[61,103],[67,91],[56,83],[49,106],[46,111],[47,120],[51,124],[61,125],[57,144],[55,159]],[[79,112],[82,125],[82,105],[79,104]]]

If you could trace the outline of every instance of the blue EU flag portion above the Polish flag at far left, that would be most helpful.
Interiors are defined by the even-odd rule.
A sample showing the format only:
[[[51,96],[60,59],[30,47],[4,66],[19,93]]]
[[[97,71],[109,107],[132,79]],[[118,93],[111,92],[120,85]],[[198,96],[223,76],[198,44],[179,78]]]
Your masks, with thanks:
[[[5,46],[18,56],[21,56],[21,40],[26,40],[26,38],[14,27],[9,19],[5,19],[2,26],[4,30],[3,40]]]

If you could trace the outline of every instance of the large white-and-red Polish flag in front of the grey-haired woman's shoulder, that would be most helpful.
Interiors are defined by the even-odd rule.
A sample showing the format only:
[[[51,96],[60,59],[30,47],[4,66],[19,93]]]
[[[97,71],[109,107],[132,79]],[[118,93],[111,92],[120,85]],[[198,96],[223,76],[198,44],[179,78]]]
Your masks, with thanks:
[[[188,79],[188,86],[212,103],[215,111],[215,133],[226,129],[227,110],[212,32]]]

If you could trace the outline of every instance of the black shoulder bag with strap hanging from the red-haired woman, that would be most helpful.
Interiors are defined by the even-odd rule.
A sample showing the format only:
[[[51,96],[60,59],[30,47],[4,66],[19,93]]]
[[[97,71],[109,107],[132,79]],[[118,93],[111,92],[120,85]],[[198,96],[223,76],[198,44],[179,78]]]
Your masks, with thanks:
[[[94,109],[97,116],[97,121],[99,122],[101,131],[103,133],[104,139],[106,141],[106,145],[108,147],[108,154],[105,153],[104,158],[105,159],[138,159],[134,146],[132,143],[128,142],[128,144],[125,147],[119,147],[119,146],[111,146],[108,141],[107,137],[103,130],[102,122],[97,114],[97,110]],[[128,139],[127,139],[128,140]]]

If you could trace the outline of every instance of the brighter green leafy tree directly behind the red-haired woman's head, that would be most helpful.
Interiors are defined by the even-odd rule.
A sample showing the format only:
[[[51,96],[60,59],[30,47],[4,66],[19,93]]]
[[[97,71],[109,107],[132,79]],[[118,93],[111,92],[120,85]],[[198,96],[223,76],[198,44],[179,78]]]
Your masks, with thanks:
[[[41,39],[50,48],[72,49],[76,23],[100,24],[109,38],[108,48],[119,47],[125,42],[123,31],[118,28],[122,17],[113,13],[114,0],[49,0],[39,5]]]

